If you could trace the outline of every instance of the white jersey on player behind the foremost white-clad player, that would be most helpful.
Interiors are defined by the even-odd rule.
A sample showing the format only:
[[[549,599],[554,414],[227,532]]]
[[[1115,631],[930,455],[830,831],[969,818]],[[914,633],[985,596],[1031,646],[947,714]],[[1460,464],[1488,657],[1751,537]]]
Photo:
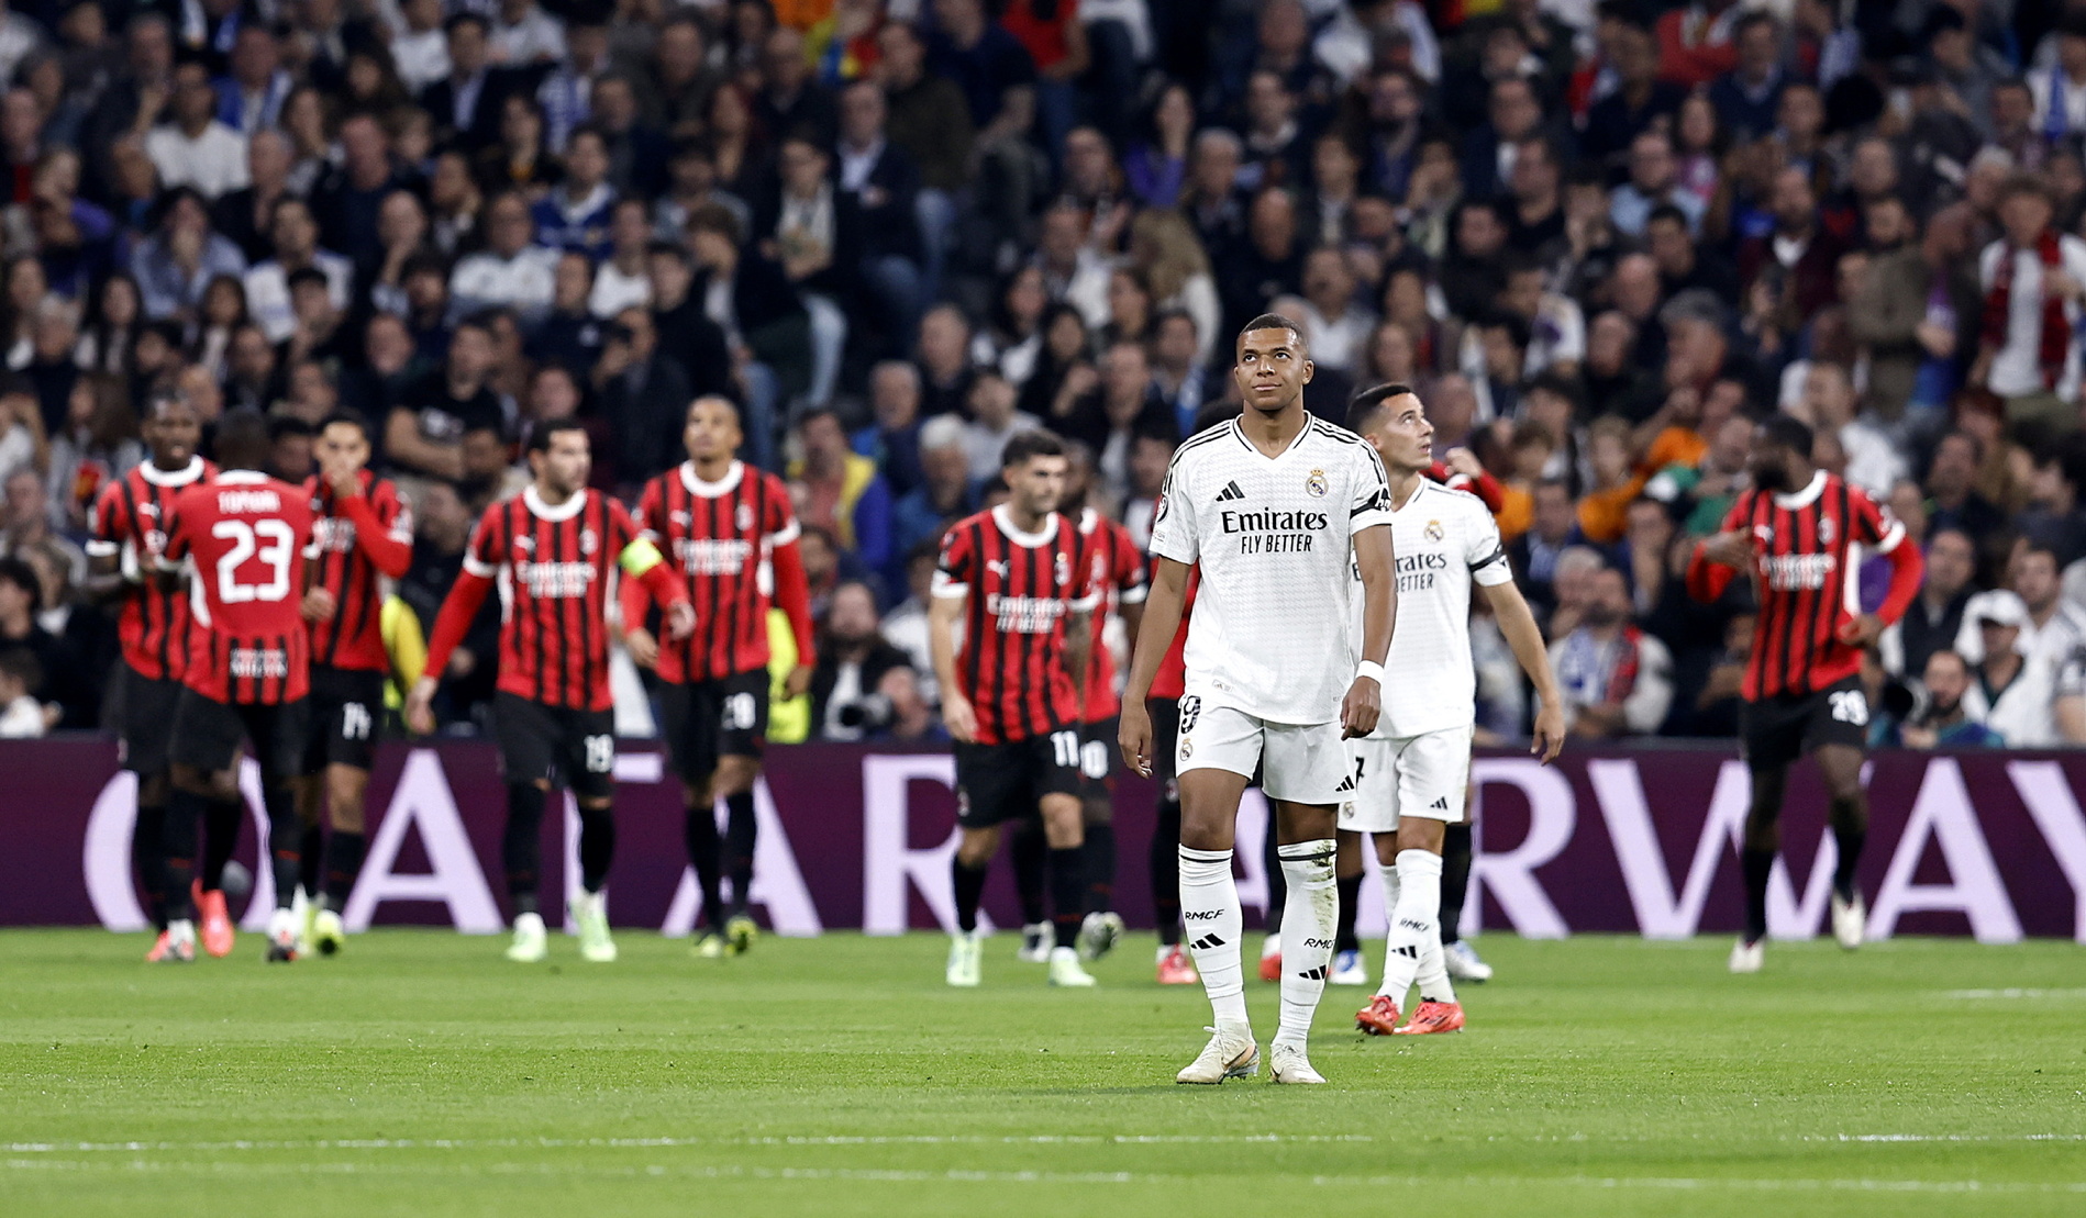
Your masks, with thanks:
[[[1471,580],[1494,586],[1514,578],[1500,526],[1485,501],[1423,478],[1412,498],[1391,511],[1391,549],[1398,555],[1398,628],[1383,661],[1383,715],[1373,736],[1469,728],[1477,722]],[[1360,657],[1360,567],[1354,580],[1354,653]]]

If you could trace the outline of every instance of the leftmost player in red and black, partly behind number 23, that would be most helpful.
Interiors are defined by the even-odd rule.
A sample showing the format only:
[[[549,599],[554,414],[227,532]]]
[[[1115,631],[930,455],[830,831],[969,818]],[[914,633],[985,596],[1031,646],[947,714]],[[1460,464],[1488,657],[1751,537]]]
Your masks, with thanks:
[[[119,605],[119,638],[123,642],[123,768],[138,776],[138,828],[131,832],[131,866],[144,886],[146,909],[159,936],[148,961],[169,957],[167,934],[167,742],[173,738],[173,711],[181,701],[181,676],[188,667],[190,630],[194,617],[188,588],[169,588],[152,578],[159,555],[167,549],[167,517],[173,496],[186,486],[211,478],[217,467],[196,455],[202,423],[186,398],[173,394],[146,403],[140,428],[152,457],[102,488],[94,501],[92,536],[88,538],[88,594],[100,603]],[[232,818],[219,815],[217,832],[236,832],[242,807]],[[213,878],[215,880],[215,878]],[[232,918],[225,895],[213,888],[192,893],[202,913],[202,947],[211,955],[232,951]],[[190,953],[192,957],[194,953]]]

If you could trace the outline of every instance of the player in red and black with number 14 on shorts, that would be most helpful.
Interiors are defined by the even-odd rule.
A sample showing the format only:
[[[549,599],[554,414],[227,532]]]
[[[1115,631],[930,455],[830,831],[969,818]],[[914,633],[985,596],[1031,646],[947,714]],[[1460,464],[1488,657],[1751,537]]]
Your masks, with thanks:
[[[384,599],[413,563],[413,513],[388,478],[369,465],[369,423],[338,413],[319,423],[305,482],[317,521],[317,584],[309,594],[311,709],[296,811],[305,822],[305,882],[298,884],[300,939],[321,955],[340,951],[348,905],[363,870],[369,765],[384,720]],[[332,830],[330,838],[321,836]],[[323,847],[321,847],[323,841]],[[323,859],[323,868],[321,868]]]

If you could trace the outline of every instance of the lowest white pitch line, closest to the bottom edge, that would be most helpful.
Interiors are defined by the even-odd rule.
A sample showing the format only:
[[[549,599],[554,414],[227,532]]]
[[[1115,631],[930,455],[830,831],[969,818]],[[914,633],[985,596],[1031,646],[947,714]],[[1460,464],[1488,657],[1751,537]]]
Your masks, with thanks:
[[[642,1168],[559,1166],[559,1164],[192,1164],[192,1162],[86,1162],[86,1160],[0,1160],[4,1170],[69,1172],[179,1172],[179,1174],[442,1174],[442,1176],[684,1176],[711,1180],[859,1180],[859,1183],[955,1183],[955,1185],[1189,1185],[1224,1176],[1179,1172],[1005,1172],[1005,1170],[899,1170],[899,1168],[747,1168],[663,1166]],[[1946,1195],[2086,1195],[2086,1183],[2026,1180],[1873,1180],[1873,1178],[1721,1178],[1721,1176],[1270,1176],[1302,1178],[1316,1187],[1575,1187],[1650,1191],[1756,1191],[1756,1193],[1946,1193]]]

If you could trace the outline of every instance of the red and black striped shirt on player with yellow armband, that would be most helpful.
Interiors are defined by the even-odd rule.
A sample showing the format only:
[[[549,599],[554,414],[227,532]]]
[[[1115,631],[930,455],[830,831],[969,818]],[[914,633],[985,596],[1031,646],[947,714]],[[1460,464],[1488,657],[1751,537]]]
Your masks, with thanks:
[[[549,507],[530,486],[486,509],[463,569],[499,580],[501,690],[609,709],[609,571],[636,536],[624,505],[592,488]],[[436,659],[446,657],[430,649],[430,665]]]

